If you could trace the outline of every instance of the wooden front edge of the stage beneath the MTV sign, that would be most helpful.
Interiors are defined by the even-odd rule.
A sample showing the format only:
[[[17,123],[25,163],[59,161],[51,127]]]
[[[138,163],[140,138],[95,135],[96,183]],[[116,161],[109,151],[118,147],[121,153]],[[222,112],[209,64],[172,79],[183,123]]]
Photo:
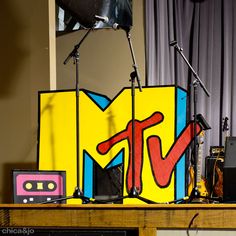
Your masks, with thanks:
[[[4,227],[138,229],[236,229],[236,204],[0,204]]]

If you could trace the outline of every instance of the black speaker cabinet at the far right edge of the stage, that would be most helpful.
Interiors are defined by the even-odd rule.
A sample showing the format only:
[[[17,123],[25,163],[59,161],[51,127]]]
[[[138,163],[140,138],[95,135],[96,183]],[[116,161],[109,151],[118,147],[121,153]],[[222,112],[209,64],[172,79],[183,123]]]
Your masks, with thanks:
[[[223,179],[223,201],[236,202],[236,137],[226,138]]]

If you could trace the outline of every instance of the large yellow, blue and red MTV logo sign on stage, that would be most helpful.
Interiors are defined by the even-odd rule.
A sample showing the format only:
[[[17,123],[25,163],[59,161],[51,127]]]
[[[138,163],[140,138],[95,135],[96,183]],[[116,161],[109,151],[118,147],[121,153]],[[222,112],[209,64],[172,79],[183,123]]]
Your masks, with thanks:
[[[112,100],[91,91],[80,91],[80,187],[85,196],[93,198],[96,181],[93,178],[93,163],[104,169],[122,164],[123,196],[127,196],[135,185],[141,197],[154,202],[183,198],[186,194],[183,151],[191,141],[190,129],[186,128],[186,91],[175,86],[146,87],[142,92],[136,90],[134,175],[131,89],[124,88]],[[39,169],[65,170],[68,196],[77,186],[75,106],[75,91],[39,94]],[[184,129],[186,132],[183,134]],[[187,142],[181,141],[184,140],[181,134],[187,137]],[[178,147],[173,148],[178,136],[182,139],[177,142]],[[159,149],[156,150],[156,147]],[[166,157],[172,160],[162,162]],[[163,168],[158,169],[157,165]],[[81,201],[68,201],[78,202]],[[128,197],[123,203],[143,201]]]

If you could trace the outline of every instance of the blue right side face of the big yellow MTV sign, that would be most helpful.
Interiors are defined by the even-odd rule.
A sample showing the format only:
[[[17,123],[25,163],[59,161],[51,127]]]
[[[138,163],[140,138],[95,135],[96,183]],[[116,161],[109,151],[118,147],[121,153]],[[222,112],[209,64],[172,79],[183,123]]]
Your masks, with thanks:
[[[186,126],[187,93],[182,89],[177,89],[176,100],[176,135],[178,136]],[[176,166],[176,199],[181,199],[185,194],[185,154]]]

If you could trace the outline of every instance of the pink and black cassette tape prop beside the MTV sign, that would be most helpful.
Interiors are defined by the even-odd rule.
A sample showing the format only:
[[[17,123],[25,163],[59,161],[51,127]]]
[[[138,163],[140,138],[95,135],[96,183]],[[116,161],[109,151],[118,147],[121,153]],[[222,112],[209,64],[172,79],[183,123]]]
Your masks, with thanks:
[[[66,172],[13,170],[13,192],[14,203],[66,203]]]

